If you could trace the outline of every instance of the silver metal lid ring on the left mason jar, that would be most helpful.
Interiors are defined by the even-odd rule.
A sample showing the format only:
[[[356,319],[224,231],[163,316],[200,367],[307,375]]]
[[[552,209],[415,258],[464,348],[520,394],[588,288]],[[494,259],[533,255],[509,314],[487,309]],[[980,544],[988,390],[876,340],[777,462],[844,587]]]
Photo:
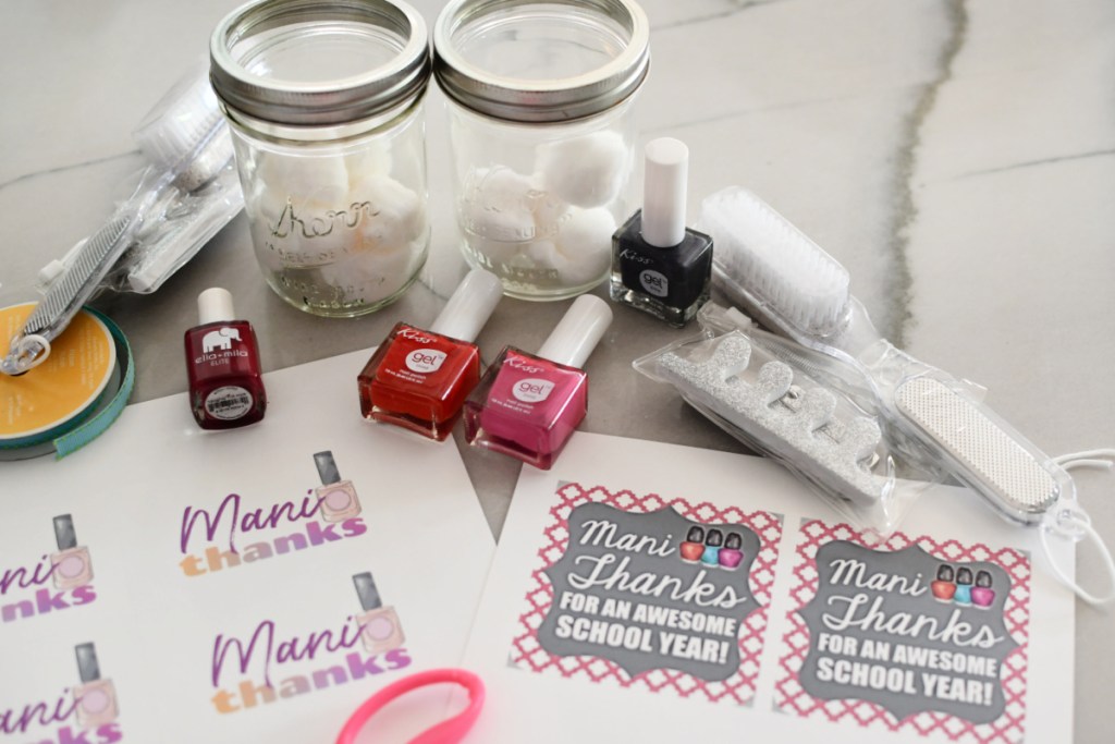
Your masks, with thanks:
[[[381,114],[430,75],[426,22],[399,0],[255,0],[217,25],[210,61],[227,108],[295,126]]]

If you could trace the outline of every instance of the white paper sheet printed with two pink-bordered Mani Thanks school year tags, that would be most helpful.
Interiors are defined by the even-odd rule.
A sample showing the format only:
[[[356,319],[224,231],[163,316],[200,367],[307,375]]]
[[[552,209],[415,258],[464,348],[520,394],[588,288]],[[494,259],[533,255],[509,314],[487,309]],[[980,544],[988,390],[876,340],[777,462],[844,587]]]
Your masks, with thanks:
[[[875,544],[769,460],[579,433],[520,477],[467,741],[1069,741],[1073,612],[967,490]]]

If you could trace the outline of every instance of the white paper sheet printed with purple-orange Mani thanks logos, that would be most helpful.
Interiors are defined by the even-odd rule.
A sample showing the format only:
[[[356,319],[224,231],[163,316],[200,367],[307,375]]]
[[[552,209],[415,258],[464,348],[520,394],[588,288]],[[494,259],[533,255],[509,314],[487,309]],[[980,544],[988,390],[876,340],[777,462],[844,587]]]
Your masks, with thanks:
[[[0,465],[0,738],[330,742],[459,665],[494,541],[452,442],[360,416],[367,358],[266,375],[251,427],[202,432],[180,395]],[[420,697],[361,741],[405,741],[448,690]]]

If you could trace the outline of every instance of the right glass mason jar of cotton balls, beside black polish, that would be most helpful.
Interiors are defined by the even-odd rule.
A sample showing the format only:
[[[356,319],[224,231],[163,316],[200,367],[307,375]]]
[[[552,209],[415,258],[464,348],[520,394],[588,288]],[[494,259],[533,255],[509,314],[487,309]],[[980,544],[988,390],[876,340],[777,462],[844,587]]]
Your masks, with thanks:
[[[438,16],[462,250],[507,294],[558,300],[608,274],[648,42],[631,0],[452,0]]]

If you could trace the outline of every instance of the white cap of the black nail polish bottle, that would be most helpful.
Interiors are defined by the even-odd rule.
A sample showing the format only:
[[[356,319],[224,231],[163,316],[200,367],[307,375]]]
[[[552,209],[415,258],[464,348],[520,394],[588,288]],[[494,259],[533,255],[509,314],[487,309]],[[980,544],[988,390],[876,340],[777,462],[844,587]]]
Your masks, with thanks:
[[[656,248],[673,248],[686,236],[686,180],[689,148],[680,139],[647,143],[642,182],[642,239]]]

